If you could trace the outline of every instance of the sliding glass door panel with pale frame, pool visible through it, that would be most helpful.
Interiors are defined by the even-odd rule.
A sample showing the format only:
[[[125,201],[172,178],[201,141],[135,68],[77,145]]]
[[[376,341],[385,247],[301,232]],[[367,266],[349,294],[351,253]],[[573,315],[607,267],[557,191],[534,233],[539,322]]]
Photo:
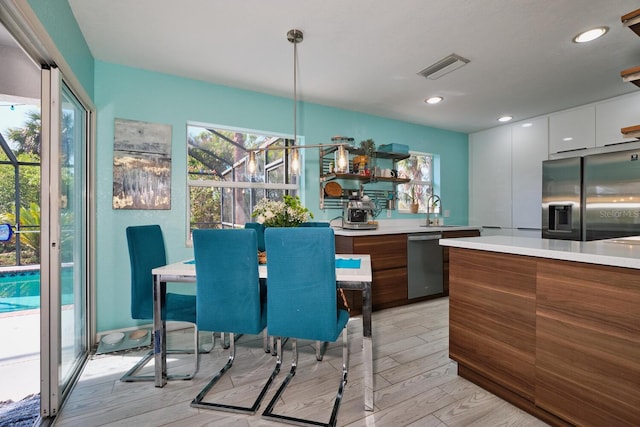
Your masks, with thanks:
[[[41,413],[54,416],[86,360],[89,114],[42,71]]]

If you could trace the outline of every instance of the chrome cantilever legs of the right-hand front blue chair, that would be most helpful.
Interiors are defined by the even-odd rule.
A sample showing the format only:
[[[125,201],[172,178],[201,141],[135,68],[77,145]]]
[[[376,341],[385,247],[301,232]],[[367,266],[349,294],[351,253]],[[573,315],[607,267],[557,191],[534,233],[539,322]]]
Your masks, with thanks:
[[[294,424],[294,425],[298,425],[298,426],[335,427],[336,422],[338,421],[338,410],[340,409],[340,403],[342,402],[342,396],[344,394],[344,388],[345,388],[345,386],[347,384],[347,374],[348,374],[348,366],[349,366],[349,343],[348,343],[347,327],[346,326],[343,329],[342,334],[343,334],[343,336],[342,336],[342,378],[340,380],[340,386],[338,388],[338,393],[336,394],[336,399],[335,399],[335,402],[333,404],[333,409],[331,411],[331,417],[329,418],[329,422],[325,424],[325,423],[322,423],[322,422],[319,422],[319,421],[307,420],[307,419],[304,419],[304,418],[290,417],[290,416],[287,416],[287,415],[275,414],[273,412],[273,410],[274,410],[274,408],[276,406],[276,403],[278,402],[278,400],[280,399],[280,397],[284,393],[284,390],[287,388],[287,386],[289,385],[289,383],[291,382],[293,377],[296,375],[296,368],[298,366],[298,346],[297,346],[297,340],[296,339],[292,339],[292,341],[291,341],[291,350],[293,352],[293,361],[291,362],[291,369],[289,370],[289,374],[284,379],[284,381],[282,382],[282,384],[278,388],[278,391],[276,391],[276,394],[271,398],[271,401],[267,405],[267,408],[262,413],[262,417],[263,418],[266,418],[266,419],[269,419],[269,420],[273,420],[273,421],[279,421],[279,422],[283,422],[283,423],[288,423],[288,424]],[[278,338],[278,359],[280,359],[280,354],[281,353],[282,353],[282,348],[281,348],[281,344],[280,344],[280,338]]]

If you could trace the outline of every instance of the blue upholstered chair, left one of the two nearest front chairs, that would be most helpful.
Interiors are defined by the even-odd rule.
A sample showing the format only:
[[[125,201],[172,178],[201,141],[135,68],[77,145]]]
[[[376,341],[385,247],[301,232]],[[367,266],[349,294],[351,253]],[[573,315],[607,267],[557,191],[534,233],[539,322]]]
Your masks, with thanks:
[[[226,365],[191,402],[196,408],[254,414],[277,375],[271,375],[251,407],[204,402],[204,398],[235,359],[236,334],[257,335],[267,325],[266,289],[258,277],[256,231],[252,229],[194,230],[198,328],[230,335]],[[267,335],[264,334],[267,347]]]

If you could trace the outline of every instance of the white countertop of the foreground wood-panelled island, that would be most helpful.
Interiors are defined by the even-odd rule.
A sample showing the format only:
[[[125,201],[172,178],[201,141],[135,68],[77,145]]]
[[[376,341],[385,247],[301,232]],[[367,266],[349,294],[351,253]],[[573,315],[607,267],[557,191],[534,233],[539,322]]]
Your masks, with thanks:
[[[440,245],[640,269],[640,236],[592,242],[533,237],[482,236],[442,239]]]

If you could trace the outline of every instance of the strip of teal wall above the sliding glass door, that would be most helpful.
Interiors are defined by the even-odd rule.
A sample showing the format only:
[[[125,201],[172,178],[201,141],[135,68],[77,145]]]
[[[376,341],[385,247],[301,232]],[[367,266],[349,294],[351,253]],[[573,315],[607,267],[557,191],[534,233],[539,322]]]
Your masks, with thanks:
[[[82,36],[69,3],[66,0],[29,0],[28,2],[87,95],[93,99],[93,55]]]

